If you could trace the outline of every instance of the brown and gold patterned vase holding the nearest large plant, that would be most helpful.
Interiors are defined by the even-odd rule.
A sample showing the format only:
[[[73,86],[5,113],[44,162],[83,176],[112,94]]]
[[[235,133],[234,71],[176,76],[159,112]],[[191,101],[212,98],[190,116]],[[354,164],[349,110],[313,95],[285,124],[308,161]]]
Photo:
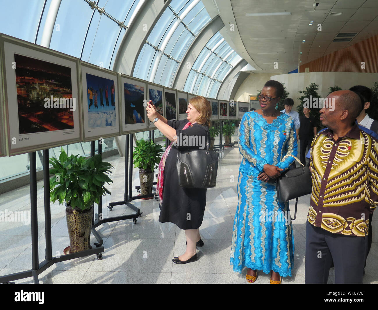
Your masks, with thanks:
[[[93,205],[83,212],[79,212],[67,204],[65,206],[68,235],[70,236],[70,253],[89,250]]]

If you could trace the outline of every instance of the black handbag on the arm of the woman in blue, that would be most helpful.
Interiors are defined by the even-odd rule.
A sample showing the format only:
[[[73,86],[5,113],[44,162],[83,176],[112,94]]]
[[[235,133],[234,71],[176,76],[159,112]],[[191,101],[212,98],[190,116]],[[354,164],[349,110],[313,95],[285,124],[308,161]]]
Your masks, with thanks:
[[[277,201],[283,203],[296,198],[294,218],[291,219],[294,221],[297,216],[298,197],[311,194],[311,172],[310,167],[304,166],[293,155],[286,155],[283,159],[288,156],[294,157],[301,167],[288,169],[276,179]]]

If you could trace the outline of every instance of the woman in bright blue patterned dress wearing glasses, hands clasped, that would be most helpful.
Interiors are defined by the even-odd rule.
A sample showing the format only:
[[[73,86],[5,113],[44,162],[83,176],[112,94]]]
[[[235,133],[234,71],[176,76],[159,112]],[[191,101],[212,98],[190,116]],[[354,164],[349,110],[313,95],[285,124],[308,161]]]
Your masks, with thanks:
[[[244,114],[239,125],[238,196],[232,231],[231,260],[235,272],[248,267],[246,279],[253,283],[257,270],[270,273],[270,283],[280,284],[291,276],[294,238],[288,203],[276,201],[270,180],[280,176],[297,156],[293,118],[277,111],[283,86],[265,83],[259,96],[261,109]],[[285,157],[286,156],[286,157]]]

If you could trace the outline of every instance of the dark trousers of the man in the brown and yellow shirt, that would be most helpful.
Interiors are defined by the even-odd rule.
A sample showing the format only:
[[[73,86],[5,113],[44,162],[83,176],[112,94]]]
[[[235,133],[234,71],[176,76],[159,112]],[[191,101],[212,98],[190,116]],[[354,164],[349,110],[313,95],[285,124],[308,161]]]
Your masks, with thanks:
[[[333,234],[306,222],[305,283],[326,284],[332,260],[336,284],[361,284],[367,237]]]

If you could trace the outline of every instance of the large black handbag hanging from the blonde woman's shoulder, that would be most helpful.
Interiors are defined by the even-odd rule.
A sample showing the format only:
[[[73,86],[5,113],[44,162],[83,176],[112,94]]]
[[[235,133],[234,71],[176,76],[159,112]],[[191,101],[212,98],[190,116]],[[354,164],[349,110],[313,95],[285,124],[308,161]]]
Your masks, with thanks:
[[[215,187],[217,185],[218,157],[218,151],[209,150],[209,143],[206,143],[206,148],[203,150],[179,150],[177,152],[177,171],[180,186]]]

